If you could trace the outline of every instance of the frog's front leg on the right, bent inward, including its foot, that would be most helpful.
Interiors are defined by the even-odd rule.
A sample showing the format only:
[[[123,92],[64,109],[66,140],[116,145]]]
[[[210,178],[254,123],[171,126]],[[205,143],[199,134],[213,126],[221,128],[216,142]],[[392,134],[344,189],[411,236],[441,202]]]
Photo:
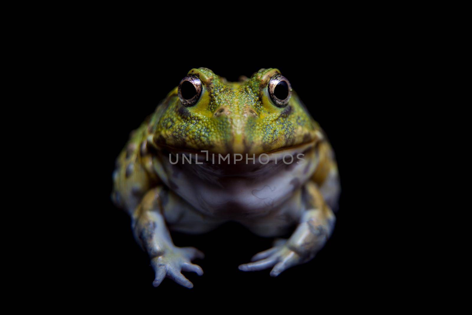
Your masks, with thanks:
[[[316,185],[309,181],[302,188],[302,204],[305,211],[295,232],[287,241],[278,240],[274,247],[253,256],[253,263],[242,264],[242,271],[257,271],[270,267],[270,275],[277,277],[288,268],[310,261],[323,247],[336,221],[334,213],[324,202]]]

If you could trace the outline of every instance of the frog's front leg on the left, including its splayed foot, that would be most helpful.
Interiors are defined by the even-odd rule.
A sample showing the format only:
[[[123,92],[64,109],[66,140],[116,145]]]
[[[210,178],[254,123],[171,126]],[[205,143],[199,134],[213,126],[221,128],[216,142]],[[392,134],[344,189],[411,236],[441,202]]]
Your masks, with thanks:
[[[185,210],[180,207],[182,204],[180,197],[160,186],[147,192],[133,213],[135,238],[151,257],[155,287],[167,277],[192,288],[192,282],[181,272],[203,274],[200,266],[191,263],[195,258],[203,258],[203,253],[194,247],[176,247],[164,220],[166,211]]]

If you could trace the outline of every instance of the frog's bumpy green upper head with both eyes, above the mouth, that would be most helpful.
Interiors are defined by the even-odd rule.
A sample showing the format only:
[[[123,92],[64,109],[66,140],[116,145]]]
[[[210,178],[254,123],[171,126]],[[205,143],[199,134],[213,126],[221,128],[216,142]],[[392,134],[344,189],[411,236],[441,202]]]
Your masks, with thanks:
[[[192,69],[157,108],[155,145],[211,153],[261,154],[321,136],[278,69],[228,82],[210,69]]]

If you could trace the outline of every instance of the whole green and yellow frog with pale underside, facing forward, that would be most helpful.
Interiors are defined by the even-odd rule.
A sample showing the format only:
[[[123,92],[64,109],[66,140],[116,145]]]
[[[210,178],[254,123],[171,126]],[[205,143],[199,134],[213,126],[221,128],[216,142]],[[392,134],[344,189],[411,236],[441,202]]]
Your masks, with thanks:
[[[229,221],[274,238],[239,270],[277,277],[309,262],[333,232],[341,190],[325,132],[277,68],[237,82],[191,69],[131,132],[112,177],[111,199],[130,215],[155,287],[170,278],[192,288],[182,272],[203,274],[193,261],[204,254],[175,246],[171,231]]]

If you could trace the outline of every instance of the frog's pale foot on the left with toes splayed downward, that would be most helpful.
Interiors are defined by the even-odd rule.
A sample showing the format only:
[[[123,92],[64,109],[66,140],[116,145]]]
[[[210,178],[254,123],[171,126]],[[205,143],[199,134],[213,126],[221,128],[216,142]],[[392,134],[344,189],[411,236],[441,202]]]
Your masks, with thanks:
[[[160,285],[164,278],[170,278],[178,284],[193,288],[194,284],[190,282],[181,273],[182,271],[196,272],[199,276],[203,270],[199,265],[192,264],[195,258],[203,259],[204,255],[195,247],[171,247],[163,255],[152,258],[151,265],[156,272],[156,278],[152,282],[154,287]]]

